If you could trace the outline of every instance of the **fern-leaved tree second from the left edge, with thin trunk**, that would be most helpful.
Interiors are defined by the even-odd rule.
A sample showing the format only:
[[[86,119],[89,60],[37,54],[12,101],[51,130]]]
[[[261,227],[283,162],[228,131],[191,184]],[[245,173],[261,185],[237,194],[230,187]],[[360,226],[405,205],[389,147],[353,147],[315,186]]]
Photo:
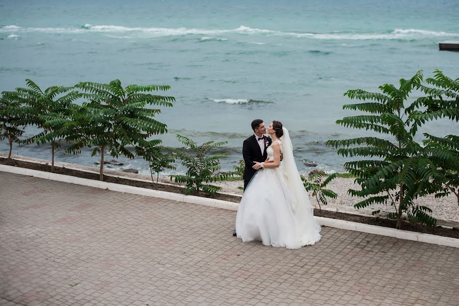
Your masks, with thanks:
[[[27,88],[16,88],[17,99],[28,107],[27,121],[43,131],[25,143],[51,144],[51,171],[54,171],[54,156],[60,140],[65,135],[65,124],[77,108],[73,101],[81,95],[73,87],[52,86],[44,91],[32,80],[26,80]]]

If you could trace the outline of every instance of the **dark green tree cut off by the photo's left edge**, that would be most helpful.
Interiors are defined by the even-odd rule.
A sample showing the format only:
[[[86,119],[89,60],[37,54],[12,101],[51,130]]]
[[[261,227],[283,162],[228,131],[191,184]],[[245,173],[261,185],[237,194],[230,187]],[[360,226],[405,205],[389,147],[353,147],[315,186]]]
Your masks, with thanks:
[[[10,151],[8,160],[11,159],[13,143],[20,143],[19,137],[24,133],[27,125],[21,103],[14,94],[3,92],[0,97],[0,141],[8,139]]]

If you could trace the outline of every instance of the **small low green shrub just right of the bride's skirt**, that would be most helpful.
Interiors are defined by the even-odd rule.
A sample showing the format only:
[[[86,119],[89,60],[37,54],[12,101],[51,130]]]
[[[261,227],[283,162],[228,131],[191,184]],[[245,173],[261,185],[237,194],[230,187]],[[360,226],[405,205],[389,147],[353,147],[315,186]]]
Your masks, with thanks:
[[[327,205],[327,197],[337,198],[338,195],[325,187],[338,176],[338,173],[333,173],[328,175],[328,177],[322,182],[323,177],[325,176],[324,171],[319,171],[317,173],[310,174],[307,179],[301,175],[301,180],[303,181],[304,188],[306,191],[312,191],[312,196],[316,197],[317,202],[319,203],[319,209],[322,210],[320,203]]]

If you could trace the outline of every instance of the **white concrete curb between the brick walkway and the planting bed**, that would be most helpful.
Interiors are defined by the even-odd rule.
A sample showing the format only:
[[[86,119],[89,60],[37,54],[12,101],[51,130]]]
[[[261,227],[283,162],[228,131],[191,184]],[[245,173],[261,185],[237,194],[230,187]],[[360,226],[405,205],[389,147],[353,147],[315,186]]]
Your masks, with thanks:
[[[197,205],[204,205],[204,206],[221,208],[221,209],[232,210],[232,211],[237,211],[237,208],[239,207],[238,203],[229,202],[229,201],[216,200],[216,199],[205,198],[205,197],[200,197],[200,196],[193,196],[193,195],[183,195],[183,194],[178,194],[178,193],[152,190],[152,189],[133,187],[133,186],[126,186],[126,185],[115,184],[115,183],[94,181],[94,180],[89,180],[89,179],[82,179],[76,176],[56,174],[56,173],[50,173],[50,172],[44,172],[44,171],[38,171],[38,170],[32,170],[32,169],[26,169],[26,168],[14,167],[14,166],[0,165],[0,171],[35,176],[35,177],[40,177],[41,179],[46,179],[46,180],[53,180],[53,181],[73,183],[73,184],[78,184],[78,185],[83,185],[83,186],[90,186],[90,187],[95,187],[95,188],[108,189],[112,191],[138,194],[138,195],[143,195],[143,196],[151,196],[151,197],[157,197],[157,198],[197,204]],[[394,237],[394,238],[399,238],[399,239],[419,241],[419,242],[459,248],[459,239],[455,239],[455,238],[423,234],[423,233],[417,233],[417,232],[409,232],[409,231],[403,231],[403,230],[396,230],[395,228],[390,228],[390,227],[382,227],[382,226],[376,226],[376,225],[370,225],[370,224],[350,222],[350,221],[344,221],[344,220],[339,220],[339,219],[331,219],[331,218],[324,218],[324,217],[316,217],[316,219],[321,225],[341,228],[342,230],[350,230],[350,231],[356,231],[356,232],[362,232],[362,233],[369,233],[369,234],[375,234],[375,235]]]

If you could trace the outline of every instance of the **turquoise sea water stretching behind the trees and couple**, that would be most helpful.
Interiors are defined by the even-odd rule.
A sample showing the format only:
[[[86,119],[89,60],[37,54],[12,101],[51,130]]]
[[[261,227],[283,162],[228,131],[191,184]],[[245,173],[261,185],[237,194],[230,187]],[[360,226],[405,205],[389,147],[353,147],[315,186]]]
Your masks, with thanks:
[[[241,158],[250,122],[280,120],[291,131],[300,171],[341,170],[328,139],[359,131],[334,122],[348,89],[377,91],[418,69],[459,77],[459,53],[438,43],[459,40],[457,1],[3,1],[0,4],[0,90],[80,81],[169,84],[177,101],[158,120],[197,141],[227,140],[230,169]],[[414,94],[413,97],[419,96]],[[457,124],[434,122],[436,135]],[[32,135],[33,129],[27,134]],[[8,145],[0,143],[0,151]],[[45,146],[14,154],[49,159]],[[60,161],[90,165],[81,156]],[[127,161],[147,171],[139,160]]]

